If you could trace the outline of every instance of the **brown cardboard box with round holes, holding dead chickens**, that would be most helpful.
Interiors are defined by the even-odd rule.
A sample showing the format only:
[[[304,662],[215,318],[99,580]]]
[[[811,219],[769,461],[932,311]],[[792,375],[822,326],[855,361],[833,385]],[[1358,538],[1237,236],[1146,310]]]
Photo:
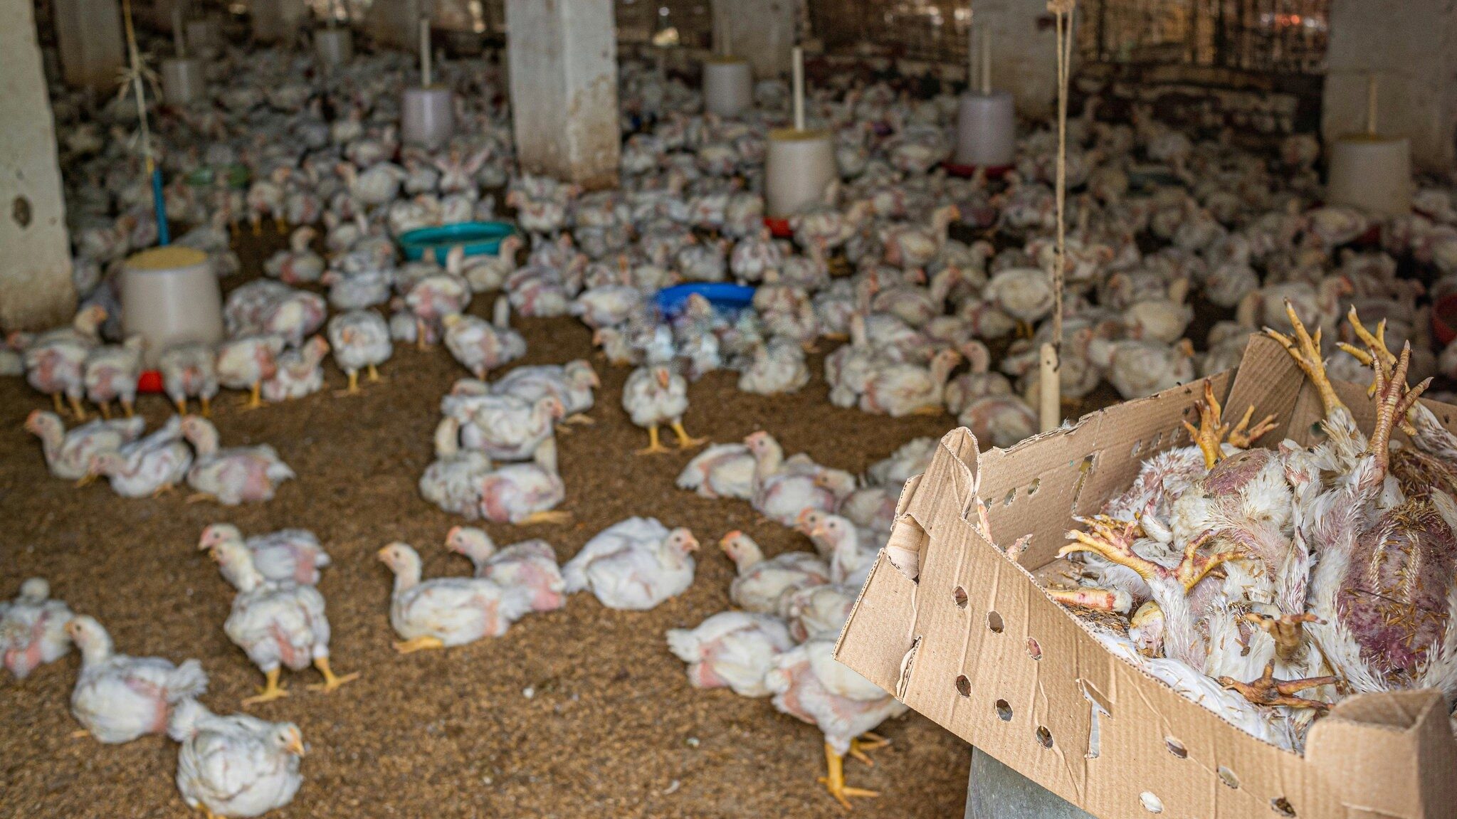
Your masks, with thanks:
[[[1273,341],[1208,379],[1231,414],[1276,412],[1262,439],[1308,443],[1320,399]],[[1362,428],[1364,386],[1336,385]],[[1155,452],[1185,446],[1202,382],[1085,415],[1074,427],[978,455],[953,430],[906,482],[902,513],[861,590],[836,657],[911,708],[1068,802],[1104,818],[1425,819],[1457,816],[1457,743],[1440,694],[1351,697],[1310,730],[1305,755],[1236,729],[1109,654],[1026,567],[1126,488]],[[1457,407],[1429,402],[1450,428]],[[1021,565],[994,538],[1032,535]],[[887,552],[899,546],[896,568]],[[909,557],[911,560],[906,560]]]

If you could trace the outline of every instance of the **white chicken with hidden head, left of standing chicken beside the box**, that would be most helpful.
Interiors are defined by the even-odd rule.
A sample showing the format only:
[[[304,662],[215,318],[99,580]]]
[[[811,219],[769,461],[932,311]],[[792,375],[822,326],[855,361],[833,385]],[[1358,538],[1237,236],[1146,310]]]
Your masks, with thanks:
[[[667,647],[688,663],[694,688],[727,686],[739,697],[768,697],[763,675],[794,647],[794,638],[774,615],[718,612],[698,628],[670,628]]]

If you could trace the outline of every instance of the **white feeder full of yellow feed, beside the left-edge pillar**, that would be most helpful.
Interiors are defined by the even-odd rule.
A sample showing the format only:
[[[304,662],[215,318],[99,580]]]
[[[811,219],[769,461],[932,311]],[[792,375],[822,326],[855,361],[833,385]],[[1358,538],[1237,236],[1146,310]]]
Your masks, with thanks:
[[[168,245],[128,258],[121,273],[121,326],[146,340],[147,367],[172,344],[220,341],[223,294],[207,254]]]

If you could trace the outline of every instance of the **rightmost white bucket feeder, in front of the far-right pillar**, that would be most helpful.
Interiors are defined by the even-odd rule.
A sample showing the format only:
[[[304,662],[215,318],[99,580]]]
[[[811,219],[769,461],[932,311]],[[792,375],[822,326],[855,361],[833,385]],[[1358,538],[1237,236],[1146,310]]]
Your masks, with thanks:
[[[1330,146],[1326,203],[1380,216],[1412,210],[1412,143],[1377,128],[1375,77],[1367,82],[1367,130]]]

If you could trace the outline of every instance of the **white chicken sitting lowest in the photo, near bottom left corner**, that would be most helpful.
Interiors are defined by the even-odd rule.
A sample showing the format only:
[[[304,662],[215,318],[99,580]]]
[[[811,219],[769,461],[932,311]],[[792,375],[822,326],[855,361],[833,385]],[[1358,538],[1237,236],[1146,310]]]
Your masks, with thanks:
[[[181,743],[178,791],[208,819],[259,816],[293,802],[303,784],[303,733],[293,723],[220,717],[184,700],[172,710],[168,736]]]

